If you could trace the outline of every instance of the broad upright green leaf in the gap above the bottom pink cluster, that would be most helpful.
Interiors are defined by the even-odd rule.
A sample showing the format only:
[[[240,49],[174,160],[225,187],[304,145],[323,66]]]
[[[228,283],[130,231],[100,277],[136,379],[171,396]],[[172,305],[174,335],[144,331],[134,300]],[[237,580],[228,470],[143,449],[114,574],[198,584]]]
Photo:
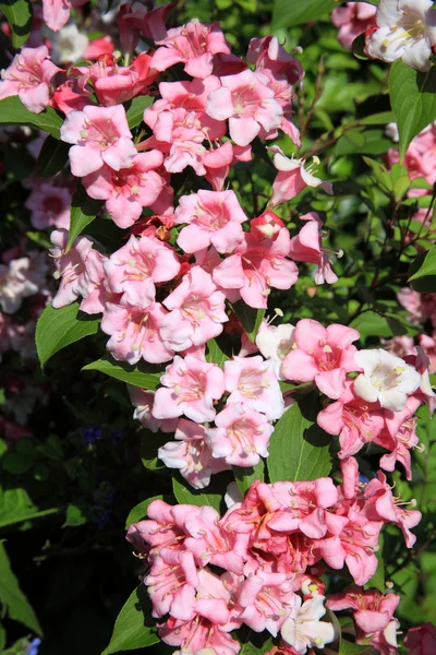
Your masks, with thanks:
[[[314,480],[330,473],[331,437],[315,422],[319,409],[314,392],[294,403],[277,422],[268,449],[270,483]]]

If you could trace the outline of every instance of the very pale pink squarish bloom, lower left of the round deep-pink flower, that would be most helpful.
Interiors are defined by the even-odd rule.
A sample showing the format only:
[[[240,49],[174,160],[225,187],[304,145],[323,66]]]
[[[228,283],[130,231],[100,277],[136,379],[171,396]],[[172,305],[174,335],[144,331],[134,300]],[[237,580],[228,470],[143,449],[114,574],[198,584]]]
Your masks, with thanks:
[[[283,414],[283,396],[272,361],[257,357],[233,357],[225,364],[228,404],[242,403],[269,420]]]

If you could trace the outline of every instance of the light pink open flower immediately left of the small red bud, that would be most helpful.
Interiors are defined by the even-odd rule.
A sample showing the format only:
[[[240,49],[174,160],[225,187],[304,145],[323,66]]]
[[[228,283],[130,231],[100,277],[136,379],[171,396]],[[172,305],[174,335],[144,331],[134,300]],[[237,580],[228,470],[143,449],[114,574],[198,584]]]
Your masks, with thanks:
[[[198,252],[213,245],[218,252],[232,252],[242,241],[241,224],[247,221],[234,191],[203,191],[182,195],[175,225],[189,223],[179,235],[184,252]]]

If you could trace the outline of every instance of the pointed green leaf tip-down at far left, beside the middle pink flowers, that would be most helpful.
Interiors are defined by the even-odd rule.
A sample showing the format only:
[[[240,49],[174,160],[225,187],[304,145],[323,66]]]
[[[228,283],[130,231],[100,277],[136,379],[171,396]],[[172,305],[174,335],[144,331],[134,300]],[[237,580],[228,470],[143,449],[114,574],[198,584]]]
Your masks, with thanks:
[[[59,350],[70,344],[97,334],[100,319],[78,314],[78,302],[73,302],[60,309],[48,305],[39,317],[36,325],[36,350],[41,368]]]

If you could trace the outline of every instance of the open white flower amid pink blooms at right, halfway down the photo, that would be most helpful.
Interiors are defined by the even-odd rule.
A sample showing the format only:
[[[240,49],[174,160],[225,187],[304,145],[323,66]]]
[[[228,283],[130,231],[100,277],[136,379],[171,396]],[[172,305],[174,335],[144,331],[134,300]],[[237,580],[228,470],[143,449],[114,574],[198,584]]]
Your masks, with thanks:
[[[408,394],[420,388],[416,369],[386,350],[360,350],[354,360],[363,369],[354,380],[354,392],[368,403],[378,401],[386,409],[401,412]]]

